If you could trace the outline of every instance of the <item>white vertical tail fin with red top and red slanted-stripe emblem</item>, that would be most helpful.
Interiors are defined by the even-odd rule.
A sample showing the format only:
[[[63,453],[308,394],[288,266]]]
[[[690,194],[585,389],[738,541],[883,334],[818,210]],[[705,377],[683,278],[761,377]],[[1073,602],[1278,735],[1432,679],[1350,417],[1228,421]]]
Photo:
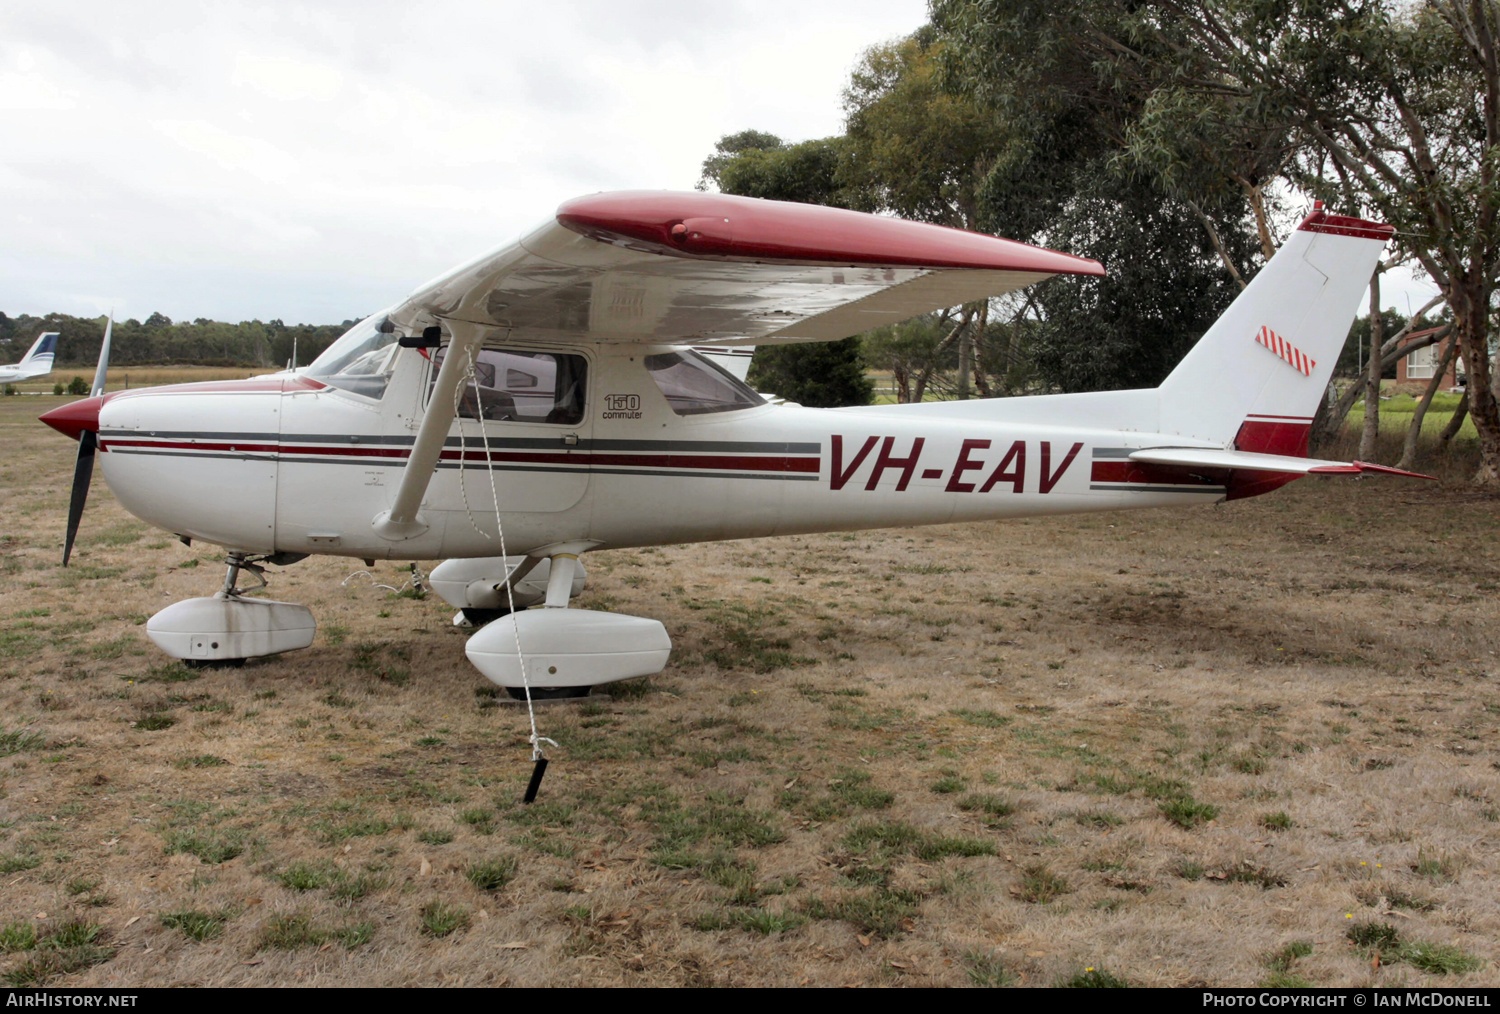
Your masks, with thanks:
[[[1390,225],[1318,207],[1162,382],[1161,432],[1306,456]]]

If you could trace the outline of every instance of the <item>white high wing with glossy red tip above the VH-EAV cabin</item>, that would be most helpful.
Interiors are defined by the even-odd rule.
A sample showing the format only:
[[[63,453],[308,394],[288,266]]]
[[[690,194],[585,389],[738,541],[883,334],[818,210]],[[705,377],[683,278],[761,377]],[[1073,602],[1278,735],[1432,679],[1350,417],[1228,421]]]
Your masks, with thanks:
[[[813,204],[597,194],[423,285],[392,322],[418,333],[465,321],[531,340],[826,342],[1053,274],[1102,273],[1012,240]]]

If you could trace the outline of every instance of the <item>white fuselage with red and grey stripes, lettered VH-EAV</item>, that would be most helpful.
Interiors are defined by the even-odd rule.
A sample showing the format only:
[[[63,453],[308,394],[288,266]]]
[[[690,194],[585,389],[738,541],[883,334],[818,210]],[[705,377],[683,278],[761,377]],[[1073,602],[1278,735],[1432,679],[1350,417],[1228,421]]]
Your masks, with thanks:
[[[302,375],[142,388],[99,411],[105,480],[135,516],[243,552],[393,560],[524,554],[1212,502],[1228,472],[1126,460],[1161,435],[768,404],[680,416],[644,369],[662,346],[582,356],[576,423],[454,422],[406,540],[388,510],[430,363],[402,350],[382,396]],[[1180,438],[1178,438],[1180,442]],[[492,468],[492,472],[490,472]],[[494,490],[490,486],[494,476]]]

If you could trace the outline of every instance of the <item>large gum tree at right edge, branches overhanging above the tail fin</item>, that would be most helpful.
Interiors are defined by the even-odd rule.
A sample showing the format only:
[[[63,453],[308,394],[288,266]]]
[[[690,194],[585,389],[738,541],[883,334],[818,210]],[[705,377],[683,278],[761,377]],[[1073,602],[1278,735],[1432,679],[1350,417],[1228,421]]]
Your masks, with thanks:
[[[962,39],[954,51],[970,76],[998,56],[1012,57],[1023,80],[1047,62],[1068,66],[1072,78],[1042,100],[1082,93],[1116,108],[1134,166],[1160,176],[1154,152],[1168,165],[1192,162],[1173,153],[1197,153],[1230,178],[1230,162],[1184,138],[1248,124],[1272,154],[1260,165],[1286,183],[1395,225],[1395,258],[1420,262],[1452,309],[1479,430],[1474,478],[1500,492],[1500,351],[1490,348],[1500,0],[938,0],[934,18]],[[1196,132],[1200,122],[1208,129]],[[1232,150],[1244,138],[1226,135]]]

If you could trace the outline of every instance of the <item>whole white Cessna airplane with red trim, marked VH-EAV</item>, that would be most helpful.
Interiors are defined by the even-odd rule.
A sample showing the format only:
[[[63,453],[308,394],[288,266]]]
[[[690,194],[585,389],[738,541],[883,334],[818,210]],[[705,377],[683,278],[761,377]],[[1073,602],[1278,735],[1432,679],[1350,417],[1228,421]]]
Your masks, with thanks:
[[[1155,390],[810,410],[694,350],[826,342],[1104,268],[807,204],[585,196],[300,370],[102,394],[106,342],[93,396],[42,417],[80,440],[64,562],[98,446],[126,510],[228,549],[219,594],[147,622],[168,654],[224,664],[310,645],[304,606],[242,594],[262,562],[446,560],[432,584],[483,624],[466,646],[480,672],[518,698],[585,694],[660,672],[672,646],[654,620],[567,608],[588,550],[1412,474],[1306,458],[1390,234],[1318,207]]]

